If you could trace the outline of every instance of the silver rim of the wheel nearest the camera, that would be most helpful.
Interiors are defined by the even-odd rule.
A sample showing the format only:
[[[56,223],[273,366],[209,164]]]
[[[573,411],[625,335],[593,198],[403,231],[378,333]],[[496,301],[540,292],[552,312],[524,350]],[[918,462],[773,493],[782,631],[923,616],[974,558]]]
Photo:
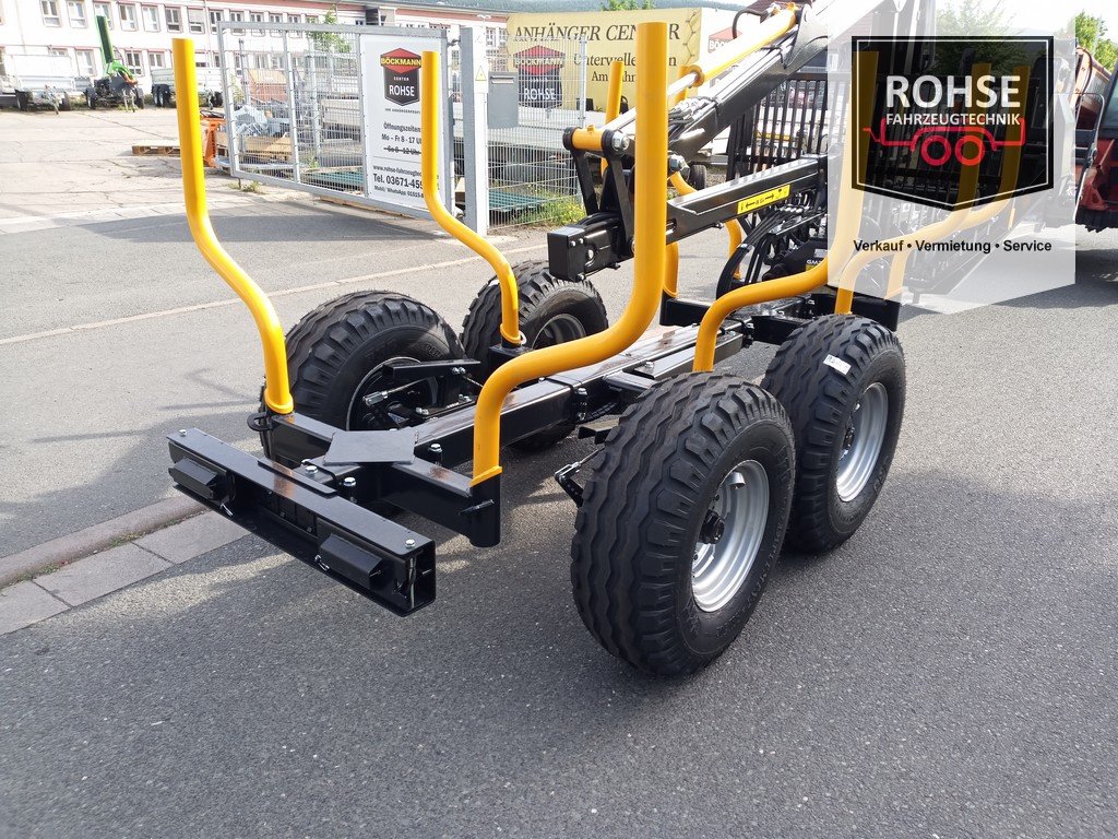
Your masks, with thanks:
[[[742,461],[722,479],[691,563],[691,595],[703,612],[722,609],[746,582],[765,536],[768,507],[768,474],[757,461]]]

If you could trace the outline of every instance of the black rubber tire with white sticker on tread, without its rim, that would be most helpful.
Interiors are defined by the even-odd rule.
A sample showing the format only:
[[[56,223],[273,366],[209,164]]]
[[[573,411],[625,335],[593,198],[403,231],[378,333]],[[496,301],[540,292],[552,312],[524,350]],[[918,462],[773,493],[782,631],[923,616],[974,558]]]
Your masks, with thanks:
[[[835,356],[849,374],[824,364]],[[890,421],[874,477],[851,502],[834,486],[836,437],[845,434],[853,403],[885,373]],[[877,379],[873,379],[877,380]],[[796,433],[796,490],[787,544],[804,553],[825,553],[844,543],[862,525],[889,473],[904,413],[904,353],[897,336],[868,318],[828,314],[794,331],[777,349],[761,387],[788,412]],[[869,492],[869,494],[866,494]]]

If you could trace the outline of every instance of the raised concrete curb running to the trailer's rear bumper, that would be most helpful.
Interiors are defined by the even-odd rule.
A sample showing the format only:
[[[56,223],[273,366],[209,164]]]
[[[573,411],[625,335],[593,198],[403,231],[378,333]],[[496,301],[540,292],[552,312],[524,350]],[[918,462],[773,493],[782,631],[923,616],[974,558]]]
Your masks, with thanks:
[[[69,536],[60,536],[18,554],[0,557],[0,587],[10,585],[20,577],[36,574],[44,568],[72,563],[98,550],[113,547],[122,540],[132,541],[152,530],[159,530],[176,521],[197,516],[205,509],[200,503],[184,496],[168,498],[149,507],[117,516],[115,519],[108,519],[100,525],[78,530]]]

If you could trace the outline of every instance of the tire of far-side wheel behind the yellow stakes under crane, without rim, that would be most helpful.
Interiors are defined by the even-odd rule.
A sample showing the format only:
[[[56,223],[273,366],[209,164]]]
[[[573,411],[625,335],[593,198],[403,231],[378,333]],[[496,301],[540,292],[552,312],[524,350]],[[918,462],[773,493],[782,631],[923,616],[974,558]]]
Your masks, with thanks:
[[[537,328],[543,326],[542,323],[533,324],[533,315],[543,303],[551,299],[552,294],[558,292],[577,290],[585,294],[582,302],[590,310],[590,317],[596,318],[598,321],[596,324],[586,324],[584,322],[584,326],[590,327],[587,334],[599,332],[609,324],[606,318],[606,307],[601,302],[597,289],[589,281],[569,282],[567,280],[559,280],[551,274],[547,260],[520,263],[513,266],[513,273],[517,276],[517,289],[520,298],[520,328],[529,345],[536,337],[533,326]],[[525,329],[525,326],[528,329]],[[501,285],[493,277],[482,287],[473,302],[470,303],[470,310],[462,321],[462,347],[467,357],[475,358],[482,362],[481,380],[487,378],[491,373],[489,367],[490,347],[498,345],[500,341]],[[574,424],[570,423],[556,425],[552,428],[547,428],[523,440],[519,440],[512,446],[527,452],[543,451],[566,437],[574,428]]]

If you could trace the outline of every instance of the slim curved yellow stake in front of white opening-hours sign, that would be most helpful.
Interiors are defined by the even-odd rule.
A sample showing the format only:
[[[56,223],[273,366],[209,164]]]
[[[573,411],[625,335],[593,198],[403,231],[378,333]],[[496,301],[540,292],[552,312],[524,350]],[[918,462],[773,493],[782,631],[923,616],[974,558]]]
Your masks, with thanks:
[[[419,144],[423,170],[423,197],[432,217],[448,234],[481,256],[493,268],[501,283],[501,338],[511,347],[523,342],[520,334],[520,300],[517,293],[517,276],[512,266],[500,251],[483,236],[479,236],[456,219],[443,206],[438,195],[438,53],[423,54],[423,87],[419,91],[423,138]]]

